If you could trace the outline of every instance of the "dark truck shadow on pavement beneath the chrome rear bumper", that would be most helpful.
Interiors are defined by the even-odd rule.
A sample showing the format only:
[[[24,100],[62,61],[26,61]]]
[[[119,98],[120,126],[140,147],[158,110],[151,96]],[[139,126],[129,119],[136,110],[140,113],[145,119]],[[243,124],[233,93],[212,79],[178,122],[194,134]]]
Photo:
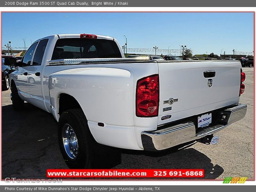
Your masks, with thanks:
[[[194,143],[187,147],[193,146]],[[202,144],[203,145],[203,144]],[[167,149],[160,152],[122,150],[122,167],[127,169],[204,169],[204,178],[161,178],[161,179],[207,179],[218,178],[224,169],[213,165],[211,159],[195,148]],[[133,156],[134,157],[133,157]],[[129,158],[130,157],[130,158]],[[132,157],[132,158],[131,158]],[[123,161],[126,159],[126,161]],[[145,163],[146,162],[146,163]],[[120,165],[115,168],[121,168]],[[142,179],[142,178],[140,178]],[[160,178],[151,178],[160,179]]]

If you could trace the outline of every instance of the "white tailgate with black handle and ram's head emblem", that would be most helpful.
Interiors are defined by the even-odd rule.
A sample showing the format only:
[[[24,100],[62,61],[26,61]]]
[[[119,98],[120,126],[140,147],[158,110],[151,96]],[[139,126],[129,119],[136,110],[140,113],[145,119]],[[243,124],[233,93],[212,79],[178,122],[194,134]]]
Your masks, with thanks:
[[[158,124],[234,105],[239,101],[239,61],[159,62],[158,67]]]

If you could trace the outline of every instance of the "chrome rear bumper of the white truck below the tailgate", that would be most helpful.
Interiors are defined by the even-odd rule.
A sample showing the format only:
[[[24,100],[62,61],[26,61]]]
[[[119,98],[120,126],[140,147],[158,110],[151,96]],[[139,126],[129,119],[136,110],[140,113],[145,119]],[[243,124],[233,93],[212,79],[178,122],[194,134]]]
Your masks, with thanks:
[[[232,108],[220,111],[220,124],[206,127],[200,132],[196,132],[196,125],[189,121],[176,124],[164,129],[141,132],[141,140],[144,150],[157,151],[167,149],[182,143],[198,140],[206,135],[216,133],[228,125],[244,118],[247,105],[239,104]]]

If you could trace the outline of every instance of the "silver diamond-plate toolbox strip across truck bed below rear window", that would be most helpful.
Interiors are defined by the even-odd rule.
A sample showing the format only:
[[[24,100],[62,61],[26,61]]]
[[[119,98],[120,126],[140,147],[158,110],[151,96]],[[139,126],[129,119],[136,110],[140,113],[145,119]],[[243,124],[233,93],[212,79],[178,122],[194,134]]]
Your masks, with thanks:
[[[77,64],[89,64],[89,63],[138,62],[138,61],[149,61],[149,58],[137,57],[137,58],[58,59],[58,60],[50,60],[49,65],[77,65]]]

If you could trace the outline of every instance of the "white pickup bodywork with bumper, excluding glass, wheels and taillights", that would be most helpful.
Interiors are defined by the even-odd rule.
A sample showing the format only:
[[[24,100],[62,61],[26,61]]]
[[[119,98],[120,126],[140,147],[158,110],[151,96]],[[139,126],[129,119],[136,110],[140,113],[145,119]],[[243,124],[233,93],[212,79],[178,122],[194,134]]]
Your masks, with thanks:
[[[96,60],[97,63],[83,63],[76,58],[51,61],[56,42],[67,38],[79,39],[80,34],[53,35],[37,40],[35,43],[48,39],[41,65],[33,65],[36,44],[30,53],[30,64],[18,67],[10,75],[11,86],[17,86],[22,100],[52,113],[56,121],[61,115],[60,95],[72,96],[83,110],[93,138],[100,144],[161,150],[215,133],[246,113],[247,106],[239,105],[239,61],[162,62],[136,58],[128,61],[122,59],[124,54],[116,39],[107,36],[97,36],[97,39],[117,44],[122,57],[117,58],[117,62],[105,62],[106,58]],[[204,72],[210,77],[205,77]],[[137,116],[138,80],[152,75],[159,76],[157,115]],[[35,79],[34,83],[31,78]],[[220,117],[214,114],[223,111],[227,112],[225,123],[196,131],[199,128],[193,118],[211,113],[217,122]]]

